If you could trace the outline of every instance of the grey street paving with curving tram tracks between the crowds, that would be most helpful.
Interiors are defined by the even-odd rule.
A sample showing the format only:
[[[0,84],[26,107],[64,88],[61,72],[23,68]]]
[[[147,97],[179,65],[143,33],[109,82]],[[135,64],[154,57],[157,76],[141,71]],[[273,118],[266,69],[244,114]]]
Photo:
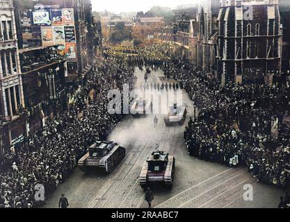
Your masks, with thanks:
[[[136,70],[140,86],[142,73]],[[149,82],[161,83],[162,73],[152,72]],[[163,80],[164,81],[164,80]],[[188,117],[193,116],[193,103],[184,93]],[[113,130],[109,139],[127,148],[127,156],[110,173],[75,169],[47,200],[45,207],[57,207],[58,198],[65,194],[70,207],[147,207],[144,191],[138,181],[143,162],[156,148],[175,155],[176,170],[172,189],[152,188],[152,207],[277,207],[281,189],[261,185],[245,168],[228,168],[204,162],[187,153],[183,142],[184,126],[165,126],[162,116],[154,128],[153,116],[127,117]],[[243,186],[252,185],[253,200],[243,200]]]

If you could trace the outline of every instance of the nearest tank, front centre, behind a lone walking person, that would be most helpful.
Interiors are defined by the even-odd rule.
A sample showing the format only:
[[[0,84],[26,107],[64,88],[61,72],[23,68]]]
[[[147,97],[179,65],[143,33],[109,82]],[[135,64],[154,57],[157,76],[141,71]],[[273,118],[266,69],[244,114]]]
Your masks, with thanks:
[[[172,187],[175,172],[175,157],[163,151],[154,151],[147,157],[140,173],[140,186],[146,189],[152,184]]]

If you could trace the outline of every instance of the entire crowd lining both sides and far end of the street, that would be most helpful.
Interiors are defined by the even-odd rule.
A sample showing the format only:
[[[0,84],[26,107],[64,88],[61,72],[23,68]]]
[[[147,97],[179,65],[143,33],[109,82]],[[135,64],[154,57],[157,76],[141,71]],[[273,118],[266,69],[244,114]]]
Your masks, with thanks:
[[[6,166],[12,167],[0,171],[0,207],[35,207],[36,184],[45,185],[45,193],[52,194],[86,148],[96,139],[106,139],[122,119],[122,115],[108,114],[108,86],[122,91],[122,85],[129,83],[132,88],[134,67],[161,69],[194,101],[199,114],[184,131],[190,155],[229,167],[244,163],[259,182],[289,185],[290,123],[284,119],[289,87],[220,85],[210,72],[199,71],[182,58],[170,58],[167,46],[144,47],[129,56],[106,51],[104,57],[97,75],[76,94],[70,112],[48,121],[6,156]],[[87,99],[92,88],[94,99]]]

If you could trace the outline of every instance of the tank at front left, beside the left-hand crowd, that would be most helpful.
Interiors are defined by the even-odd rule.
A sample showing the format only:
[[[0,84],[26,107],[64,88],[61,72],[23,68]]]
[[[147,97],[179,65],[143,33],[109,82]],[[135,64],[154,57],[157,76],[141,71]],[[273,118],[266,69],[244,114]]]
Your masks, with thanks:
[[[110,173],[124,159],[125,153],[125,148],[115,142],[96,142],[88,148],[88,153],[81,157],[78,166],[83,172],[90,168],[99,168]]]

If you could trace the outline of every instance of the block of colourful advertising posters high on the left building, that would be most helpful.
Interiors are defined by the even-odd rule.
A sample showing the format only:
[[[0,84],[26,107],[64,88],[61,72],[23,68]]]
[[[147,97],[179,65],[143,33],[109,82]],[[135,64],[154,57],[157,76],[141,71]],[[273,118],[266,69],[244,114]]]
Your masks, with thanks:
[[[41,40],[42,46],[58,45],[59,54],[67,56],[68,61],[76,60],[74,8],[35,7],[33,11],[21,14],[21,22],[23,40]]]

